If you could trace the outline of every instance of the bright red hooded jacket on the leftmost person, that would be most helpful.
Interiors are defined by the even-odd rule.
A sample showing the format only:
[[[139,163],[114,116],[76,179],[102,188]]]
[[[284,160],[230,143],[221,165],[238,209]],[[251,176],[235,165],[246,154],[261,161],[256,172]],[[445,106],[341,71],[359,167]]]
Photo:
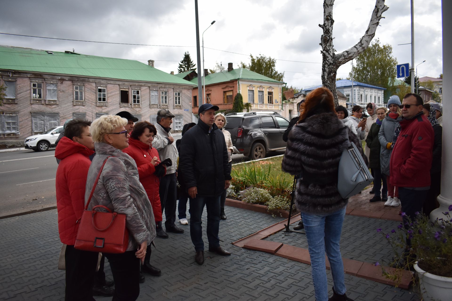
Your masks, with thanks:
[[[61,162],[56,169],[56,208],[58,232],[63,244],[74,245],[79,229],[78,219],[85,208],[85,185],[94,151],[67,137],[56,146],[55,157]]]

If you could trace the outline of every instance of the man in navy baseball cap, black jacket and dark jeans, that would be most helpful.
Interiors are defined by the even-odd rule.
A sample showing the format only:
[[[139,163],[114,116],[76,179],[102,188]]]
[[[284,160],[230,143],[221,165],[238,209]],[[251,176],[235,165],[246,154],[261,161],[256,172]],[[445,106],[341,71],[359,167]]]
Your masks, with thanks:
[[[231,253],[220,246],[220,196],[229,187],[229,172],[226,142],[223,133],[215,125],[217,106],[205,103],[199,107],[198,124],[184,136],[179,154],[179,170],[190,196],[190,236],[195,247],[195,260],[204,263],[201,216],[207,208],[207,238],[209,252],[229,256]]]

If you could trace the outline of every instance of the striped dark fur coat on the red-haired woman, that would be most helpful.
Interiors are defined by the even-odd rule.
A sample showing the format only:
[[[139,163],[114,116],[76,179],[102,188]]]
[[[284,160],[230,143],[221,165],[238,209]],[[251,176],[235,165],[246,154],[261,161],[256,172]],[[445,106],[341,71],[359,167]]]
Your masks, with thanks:
[[[316,114],[292,128],[282,170],[292,175],[303,174],[295,193],[298,210],[330,214],[347,205],[348,199],[339,195],[337,183],[339,160],[348,140],[356,144],[368,164],[361,141],[336,114]]]

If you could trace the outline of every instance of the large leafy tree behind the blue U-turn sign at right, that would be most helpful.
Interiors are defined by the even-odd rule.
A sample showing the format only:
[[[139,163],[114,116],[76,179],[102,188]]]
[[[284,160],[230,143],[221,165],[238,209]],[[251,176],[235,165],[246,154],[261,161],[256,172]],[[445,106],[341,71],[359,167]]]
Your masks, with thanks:
[[[349,75],[354,81],[388,89],[394,85],[397,76],[396,65],[397,60],[392,56],[392,46],[381,45],[380,40],[376,40],[357,56],[356,65],[352,67]],[[390,90],[385,91],[385,99],[390,96],[386,95],[391,93]]]

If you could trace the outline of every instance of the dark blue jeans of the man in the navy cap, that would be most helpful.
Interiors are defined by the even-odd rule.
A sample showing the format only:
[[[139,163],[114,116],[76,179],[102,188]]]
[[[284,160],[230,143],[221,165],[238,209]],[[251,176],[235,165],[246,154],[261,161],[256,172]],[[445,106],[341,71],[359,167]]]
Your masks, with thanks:
[[[220,229],[220,195],[201,196],[190,198],[190,237],[192,238],[195,251],[204,250],[204,241],[202,241],[202,211],[207,207],[207,239],[209,248],[220,246],[218,231]]]

